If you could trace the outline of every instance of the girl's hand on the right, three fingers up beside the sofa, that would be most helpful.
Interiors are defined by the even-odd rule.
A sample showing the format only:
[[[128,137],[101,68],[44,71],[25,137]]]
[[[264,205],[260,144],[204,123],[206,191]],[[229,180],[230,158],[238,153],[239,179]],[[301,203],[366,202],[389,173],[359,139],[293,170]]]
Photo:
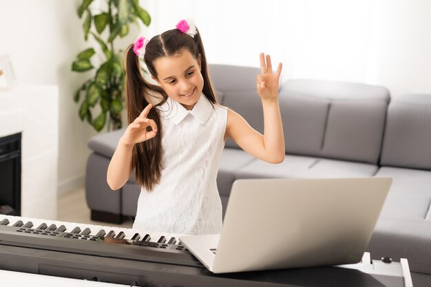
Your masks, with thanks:
[[[282,74],[282,63],[278,64],[277,71],[273,73],[271,56],[260,53],[260,69],[262,74],[257,75],[257,94],[263,99],[277,98],[278,81]]]

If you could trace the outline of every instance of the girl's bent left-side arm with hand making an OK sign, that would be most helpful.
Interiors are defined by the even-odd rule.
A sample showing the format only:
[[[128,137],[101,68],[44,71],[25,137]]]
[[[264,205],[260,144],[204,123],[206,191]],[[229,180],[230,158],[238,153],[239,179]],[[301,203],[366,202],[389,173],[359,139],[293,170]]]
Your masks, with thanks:
[[[118,141],[114,156],[109,162],[107,169],[107,184],[112,190],[117,190],[129,180],[132,173],[132,151],[133,147],[138,142],[143,142],[154,138],[157,134],[157,125],[154,120],[147,118],[152,105],[149,104],[140,113],[138,118],[131,123],[123,136]],[[151,127],[151,131],[147,131],[147,127]]]

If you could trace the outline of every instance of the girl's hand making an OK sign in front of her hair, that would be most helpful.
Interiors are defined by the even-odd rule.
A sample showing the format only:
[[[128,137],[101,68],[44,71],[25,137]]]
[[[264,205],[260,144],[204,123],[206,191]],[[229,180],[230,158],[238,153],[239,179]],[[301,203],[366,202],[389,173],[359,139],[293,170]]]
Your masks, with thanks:
[[[145,142],[145,140],[149,140],[150,138],[154,138],[157,134],[157,125],[154,120],[147,118],[149,110],[153,107],[153,105],[148,104],[145,109],[140,113],[138,118],[136,118],[133,123],[131,123],[121,141],[125,145],[134,145],[138,142]],[[147,127],[151,127],[151,131],[147,131]]]

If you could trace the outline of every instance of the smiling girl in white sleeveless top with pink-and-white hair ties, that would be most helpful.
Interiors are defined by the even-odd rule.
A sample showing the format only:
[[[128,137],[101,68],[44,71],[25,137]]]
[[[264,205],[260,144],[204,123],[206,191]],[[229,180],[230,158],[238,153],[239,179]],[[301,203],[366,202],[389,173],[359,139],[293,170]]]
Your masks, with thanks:
[[[257,93],[264,135],[217,103],[196,27],[182,20],[150,41],[143,37],[125,56],[127,127],[109,163],[107,182],[120,189],[135,169],[142,185],[133,228],[177,234],[215,234],[222,229],[216,176],[224,141],[266,162],[284,160],[278,82],[271,58],[260,54]],[[158,85],[145,81],[139,56]]]

